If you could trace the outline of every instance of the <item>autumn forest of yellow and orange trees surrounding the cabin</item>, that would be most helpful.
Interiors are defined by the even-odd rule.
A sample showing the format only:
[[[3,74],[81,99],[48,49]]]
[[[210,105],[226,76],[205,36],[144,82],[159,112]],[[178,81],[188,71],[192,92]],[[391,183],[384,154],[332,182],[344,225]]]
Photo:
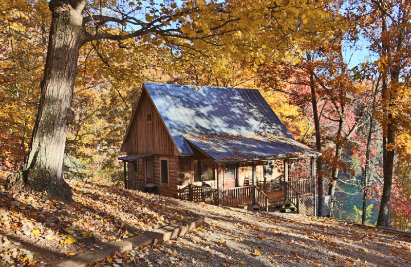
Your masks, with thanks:
[[[0,32],[6,188],[123,187],[143,82],[254,88],[332,218],[411,231],[409,0],[4,0]]]

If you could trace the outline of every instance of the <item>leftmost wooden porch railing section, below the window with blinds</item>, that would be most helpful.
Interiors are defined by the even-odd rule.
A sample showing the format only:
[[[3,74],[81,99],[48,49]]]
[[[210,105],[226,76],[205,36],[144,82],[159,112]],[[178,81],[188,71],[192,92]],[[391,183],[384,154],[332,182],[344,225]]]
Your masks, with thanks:
[[[185,201],[204,202],[218,205],[217,189],[189,184],[180,189],[178,198]]]

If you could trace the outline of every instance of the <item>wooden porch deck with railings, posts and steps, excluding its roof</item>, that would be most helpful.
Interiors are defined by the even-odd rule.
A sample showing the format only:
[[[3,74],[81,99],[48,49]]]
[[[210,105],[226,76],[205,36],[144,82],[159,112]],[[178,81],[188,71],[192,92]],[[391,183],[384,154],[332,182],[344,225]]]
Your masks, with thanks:
[[[257,181],[255,162],[251,185],[227,188],[223,184],[221,164],[216,164],[217,188],[189,184],[179,190],[178,198],[187,201],[204,202],[211,205],[246,207],[270,212],[296,212],[316,215],[315,212],[315,158],[311,158],[311,178],[290,176],[288,159],[284,160],[284,174],[268,180]],[[262,181],[261,181],[262,180]],[[206,184],[204,184],[206,185]],[[224,186],[223,186],[224,185]]]

